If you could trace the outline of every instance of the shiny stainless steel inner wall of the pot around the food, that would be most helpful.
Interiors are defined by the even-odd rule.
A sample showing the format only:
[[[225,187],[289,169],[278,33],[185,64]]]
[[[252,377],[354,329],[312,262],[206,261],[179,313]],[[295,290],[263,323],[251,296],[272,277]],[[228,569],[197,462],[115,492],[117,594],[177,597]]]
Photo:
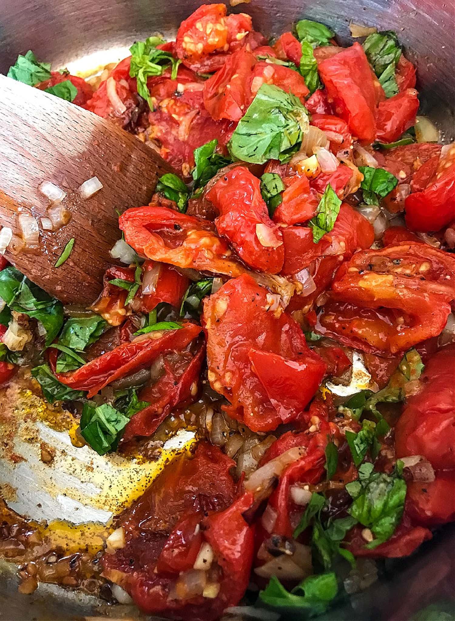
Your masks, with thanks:
[[[304,16],[330,25],[343,42],[349,41],[351,21],[397,31],[408,57],[417,64],[423,112],[436,122],[444,141],[448,142],[455,135],[454,4],[453,0],[414,2],[252,0],[233,11],[250,13],[256,29],[266,35],[289,30],[292,22]],[[196,0],[174,0],[169,4],[154,0],[0,0],[0,72],[6,73],[17,55],[29,49],[38,58],[51,61],[53,66],[68,65],[72,71],[93,69],[124,57],[134,40],[145,39],[151,32],[173,37],[181,20],[200,3]],[[435,599],[453,595],[454,550],[454,529],[447,527],[413,558],[385,563],[379,582],[340,605],[327,619],[410,619],[415,610]],[[97,614],[93,599],[52,585],[41,585],[34,596],[21,596],[16,590],[14,572],[10,569],[8,576],[2,566],[0,572],[3,574],[0,619],[63,620]],[[115,607],[110,616],[119,618],[124,614],[131,619],[134,613],[121,612]]]

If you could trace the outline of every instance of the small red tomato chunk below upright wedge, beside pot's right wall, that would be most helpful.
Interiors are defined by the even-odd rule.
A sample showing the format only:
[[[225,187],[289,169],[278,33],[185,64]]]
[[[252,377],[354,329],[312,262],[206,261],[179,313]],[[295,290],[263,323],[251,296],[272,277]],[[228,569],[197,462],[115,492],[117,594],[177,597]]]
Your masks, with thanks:
[[[381,101],[377,109],[377,140],[394,142],[415,124],[419,107],[417,91],[407,89]]]

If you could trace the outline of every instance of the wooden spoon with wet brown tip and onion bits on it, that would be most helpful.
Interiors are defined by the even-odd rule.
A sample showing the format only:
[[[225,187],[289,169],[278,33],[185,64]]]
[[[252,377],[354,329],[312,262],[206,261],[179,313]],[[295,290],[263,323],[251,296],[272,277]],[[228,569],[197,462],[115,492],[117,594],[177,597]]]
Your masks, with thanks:
[[[109,250],[120,238],[117,211],[146,205],[158,177],[173,169],[155,151],[117,125],[59,97],[0,76],[0,224],[19,234],[17,215],[40,222],[51,181],[66,192],[71,220],[41,230],[38,250],[13,244],[5,256],[31,281],[65,303],[88,306],[101,291]],[[78,188],[96,176],[103,188],[83,200]],[[55,262],[75,239],[70,258]]]

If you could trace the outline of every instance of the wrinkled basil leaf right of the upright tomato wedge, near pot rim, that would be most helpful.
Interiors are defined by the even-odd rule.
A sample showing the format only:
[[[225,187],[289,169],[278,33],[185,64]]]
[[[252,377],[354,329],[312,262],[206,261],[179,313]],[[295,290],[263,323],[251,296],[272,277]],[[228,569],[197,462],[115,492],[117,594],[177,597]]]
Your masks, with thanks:
[[[398,93],[395,68],[400,60],[402,48],[397,35],[392,30],[374,32],[369,35],[363,49],[374,73],[384,89],[386,97],[393,97]]]

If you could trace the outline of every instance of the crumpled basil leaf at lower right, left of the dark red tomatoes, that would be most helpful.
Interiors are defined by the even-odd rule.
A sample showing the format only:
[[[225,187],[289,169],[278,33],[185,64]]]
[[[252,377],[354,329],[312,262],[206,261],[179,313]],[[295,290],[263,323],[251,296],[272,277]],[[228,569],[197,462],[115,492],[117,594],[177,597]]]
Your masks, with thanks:
[[[359,480],[346,485],[354,499],[349,514],[376,537],[365,546],[370,550],[392,537],[402,519],[406,496],[402,465],[398,461],[394,473],[384,474],[365,463],[359,468]]]

